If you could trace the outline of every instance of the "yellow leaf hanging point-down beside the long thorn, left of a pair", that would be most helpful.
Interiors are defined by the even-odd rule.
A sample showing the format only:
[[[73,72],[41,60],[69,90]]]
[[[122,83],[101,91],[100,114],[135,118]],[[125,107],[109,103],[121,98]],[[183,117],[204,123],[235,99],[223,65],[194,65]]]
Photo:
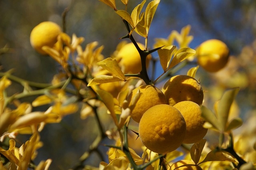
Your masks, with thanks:
[[[157,50],[159,58],[160,58],[161,66],[162,66],[164,71],[166,71],[167,68],[168,68],[168,65],[170,63],[170,60],[171,60],[172,53],[173,53],[174,49],[176,49],[176,46],[171,45],[171,46],[168,46],[168,47],[162,47],[162,48]]]

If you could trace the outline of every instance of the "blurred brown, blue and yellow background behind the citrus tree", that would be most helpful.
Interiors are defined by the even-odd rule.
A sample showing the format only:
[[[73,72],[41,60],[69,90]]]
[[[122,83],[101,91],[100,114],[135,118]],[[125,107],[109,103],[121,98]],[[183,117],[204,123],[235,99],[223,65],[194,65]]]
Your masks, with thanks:
[[[129,0],[128,11],[131,12],[140,2]],[[116,0],[116,4],[118,9],[124,9],[120,0]],[[10,48],[0,55],[1,72],[15,68],[13,75],[50,83],[52,76],[58,73],[58,65],[31,47],[30,32],[43,21],[53,21],[62,26],[62,13],[66,8],[66,33],[84,37],[82,46],[98,41],[99,45],[104,45],[105,57],[116,49],[119,38],[127,34],[120,17],[98,0],[1,0],[0,48]],[[161,0],[150,27],[149,48],[152,48],[154,38],[167,38],[172,30],[180,32],[188,24],[191,25],[190,35],[194,36],[191,48],[212,38],[225,42],[232,55],[227,68],[218,73],[206,73],[199,69],[197,78],[208,91],[205,100],[210,107],[220,99],[225,89],[241,87],[235,111],[246,121],[256,109],[255,23],[255,0]],[[144,42],[136,34],[134,36],[138,42]],[[157,57],[157,53],[153,55]],[[162,73],[158,68],[156,76]],[[188,69],[181,73],[186,74]],[[21,90],[14,83],[9,93]],[[92,128],[94,125],[93,117],[81,120],[79,113],[65,117],[60,124],[47,125],[41,133],[44,146],[38,150],[35,162],[52,158],[50,169],[65,170],[74,166],[96,137],[97,129]],[[105,154],[108,149],[100,147],[102,154]],[[98,156],[92,154],[85,164],[97,167],[100,161]]]

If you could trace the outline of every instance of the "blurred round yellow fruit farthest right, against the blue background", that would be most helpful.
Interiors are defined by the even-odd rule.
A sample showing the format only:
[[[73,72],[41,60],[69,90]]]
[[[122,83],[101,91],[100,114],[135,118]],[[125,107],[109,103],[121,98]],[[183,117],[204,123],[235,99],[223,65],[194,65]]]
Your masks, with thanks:
[[[196,49],[198,65],[209,72],[216,72],[225,67],[229,58],[227,45],[216,39],[207,40]]]

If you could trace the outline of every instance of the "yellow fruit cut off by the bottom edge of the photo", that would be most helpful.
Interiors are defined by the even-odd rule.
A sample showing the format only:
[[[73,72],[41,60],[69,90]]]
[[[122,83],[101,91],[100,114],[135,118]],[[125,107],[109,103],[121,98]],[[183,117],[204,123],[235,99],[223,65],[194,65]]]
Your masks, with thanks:
[[[174,170],[174,169],[175,170],[202,170],[202,168],[199,165],[191,166],[194,164],[195,163],[192,160],[179,160],[178,162],[175,162],[174,164],[172,164],[171,170]],[[182,165],[187,165],[187,166],[182,166]]]

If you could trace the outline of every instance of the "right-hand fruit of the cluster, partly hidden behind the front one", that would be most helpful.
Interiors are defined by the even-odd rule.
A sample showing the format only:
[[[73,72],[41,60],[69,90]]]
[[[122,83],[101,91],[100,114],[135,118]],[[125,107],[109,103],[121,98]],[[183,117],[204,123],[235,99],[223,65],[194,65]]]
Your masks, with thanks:
[[[183,143],[192,144],[201,140],[208,129],[203,127],[205,121],[201,117],[200,106],[192,101],[181,101],[173,107],[180,111],[186,121],[187,132]]]

